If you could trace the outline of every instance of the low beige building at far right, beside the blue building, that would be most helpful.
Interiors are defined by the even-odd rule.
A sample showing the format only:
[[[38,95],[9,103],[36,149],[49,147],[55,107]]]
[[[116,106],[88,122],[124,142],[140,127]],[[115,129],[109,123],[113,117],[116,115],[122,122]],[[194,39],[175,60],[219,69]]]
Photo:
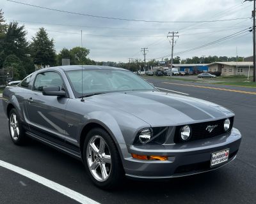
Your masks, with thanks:
[[[253,62],[212,62],[208,66],[209,71],[220,71],[221,76],[253,76]]]

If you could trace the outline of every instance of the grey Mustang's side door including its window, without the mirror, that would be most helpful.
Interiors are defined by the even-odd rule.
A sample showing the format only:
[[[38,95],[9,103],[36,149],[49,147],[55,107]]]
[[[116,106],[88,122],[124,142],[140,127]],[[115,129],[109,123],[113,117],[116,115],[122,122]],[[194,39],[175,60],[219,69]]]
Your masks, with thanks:
[[[27,99],[29,128],[31,133],[54,142],[65,142],[66,97],[44,96],[43,87],[60,86],[65,89],[63,79],[57,71],[45,71],[36,75],[30,97]],[[67,89],[66,89],[67,90]]]

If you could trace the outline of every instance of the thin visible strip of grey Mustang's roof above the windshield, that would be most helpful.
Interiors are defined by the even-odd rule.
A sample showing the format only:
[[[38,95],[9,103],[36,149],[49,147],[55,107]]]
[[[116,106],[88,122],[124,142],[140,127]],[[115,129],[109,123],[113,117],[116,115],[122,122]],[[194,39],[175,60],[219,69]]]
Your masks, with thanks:
[[[127,69],[122,69],[122,68],[114,68],[111,66],[98,66],[98,65],[68,65],[68,66],[53,66],[49,68],[45,68],[44,70],[47,69],[62,69],[63,71],[74,71],[74,70],[90,70],[90,69],[111,69],[111,70],[124,70],[128,71]],[[42,69],[40,69],[42,70]]]

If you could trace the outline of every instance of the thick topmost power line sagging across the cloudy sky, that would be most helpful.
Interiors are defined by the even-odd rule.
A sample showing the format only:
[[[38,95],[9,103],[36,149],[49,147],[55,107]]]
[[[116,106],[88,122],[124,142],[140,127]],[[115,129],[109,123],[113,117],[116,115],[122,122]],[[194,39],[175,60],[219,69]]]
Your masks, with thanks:
[[[23,4],[26,6],[32,6],[35,8],[42,8],[45,10],[51,10],[51,11],[58,11],[61,13],[70,13],[70,14],[74,14],[74,15],[83,15],[83,16],[87,16],[87,17],[94,17],[94,18],[106,18],[106,19],[111,19],[111,20],[125,20],[125,21],[134,21],[134,22],[155,22],[155,23],[200,23],[200,22],[223,22],[223,21],[230,21],[230,20],[241,20],[241,19],[246,19],[246,18],[250,18],[250,17],[243,17],[243,18],[230,18],[230,19],[222,19],[222,20],[198,20],[198,21],[160,21],[160,20],[140,20],[140,19],[130,19],[130,18],[117,18],[117,17],[103,17],[100,15],[91,15],[88,13],[77,13],[74,11],[65,11],[65,10],[58,10],[56,8],[48,8],[48,7],[44,7],[44,6],[36,6],[34,4],[28,4],[28,3],[22,3],[19,1],[12,1],[12,0],[6,0],[6,1],[10,1],[12,3],[17,3],[17,4]]]

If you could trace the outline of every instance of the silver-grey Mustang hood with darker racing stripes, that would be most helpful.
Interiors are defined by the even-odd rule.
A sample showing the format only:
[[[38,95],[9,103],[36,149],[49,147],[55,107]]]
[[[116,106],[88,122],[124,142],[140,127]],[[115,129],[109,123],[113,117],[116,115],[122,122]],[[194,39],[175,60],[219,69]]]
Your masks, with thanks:
[[[88,100],[118,108],[151,126],[177,126],[234,116],[227,108],[209,101],[157,91],[113,92]]]

